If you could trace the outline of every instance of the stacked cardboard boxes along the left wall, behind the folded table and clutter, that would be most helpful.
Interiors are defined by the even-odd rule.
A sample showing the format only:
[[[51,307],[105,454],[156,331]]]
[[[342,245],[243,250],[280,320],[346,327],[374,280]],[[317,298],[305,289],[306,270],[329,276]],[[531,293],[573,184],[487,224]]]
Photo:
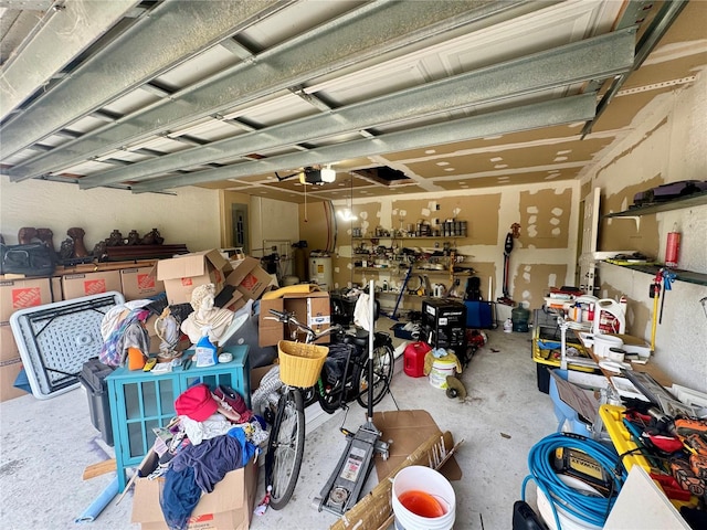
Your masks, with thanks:
[[[53,277],[0,276],[0,401],[24,395],[24,391],[13,386],[22,367],[9,325],[14,311],[108,292],[122,293],[126,301],[166,293],[169,305],[188,304],[193,289],[208,283],[214,284],[218,294],[229,297],[223,307],[235,311],[247,300],[258,299],[274,284],[260,264],[254,257],[232,262],[213,248],[160,261],[77,265],[70,271],[56,271]],[[330,324],[329,296],[325,292],[289,293],[264,300],[258,333],[261,347],[275,346],[278,340],[289,338],[285,326],[262,318],[271,308],[293,311],[317,331]],[[155,333],[156,318],[151,317],[146,324],[151,352],[158,351],[160,342]]]

